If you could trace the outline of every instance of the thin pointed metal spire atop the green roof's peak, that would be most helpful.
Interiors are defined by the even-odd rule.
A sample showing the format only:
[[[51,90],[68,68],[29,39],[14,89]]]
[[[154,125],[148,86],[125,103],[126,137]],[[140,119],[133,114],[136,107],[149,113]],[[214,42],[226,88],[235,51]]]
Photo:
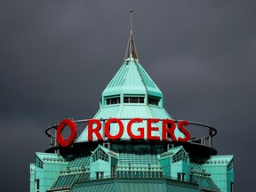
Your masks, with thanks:
[[[130,32],[130,36],[128,39],[128,44],[127,44],[127,48],[126,48],[126,52],[125,52],[124,61],[127,59],[131,60],[132,58],[136,61],[139,61],[138,53],[136,50],[135,41],[134,41],[134,37],[133,37],[133,33],[132,33],[132,10],[130,10],[130,13],[131,13],[131,32]]]

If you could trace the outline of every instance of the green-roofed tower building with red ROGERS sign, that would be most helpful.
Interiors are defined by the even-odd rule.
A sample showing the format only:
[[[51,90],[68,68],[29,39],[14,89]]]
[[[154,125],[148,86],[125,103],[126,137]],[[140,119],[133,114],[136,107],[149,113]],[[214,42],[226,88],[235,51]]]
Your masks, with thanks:
[[[190,138],[189,126],[207,134]],[[169,116],[163,93],[140,65],[132,30],[93,119],[66,119],[45,132],[52,147],[30,164],[30,192],[234,191],[233,156],[217,156],[212,147],[216,129]]]

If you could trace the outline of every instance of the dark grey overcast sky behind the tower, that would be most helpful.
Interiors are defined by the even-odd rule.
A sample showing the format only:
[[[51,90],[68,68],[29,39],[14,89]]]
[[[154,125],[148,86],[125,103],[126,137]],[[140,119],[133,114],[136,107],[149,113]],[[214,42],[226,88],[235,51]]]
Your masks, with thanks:
[[[140,64],[174,118],[218,129],[236,191],[255,191],[256,1],[0,2],[1,191],[29,190],[29,164],[66,117],[92,118],[123,63],[133,9]]]

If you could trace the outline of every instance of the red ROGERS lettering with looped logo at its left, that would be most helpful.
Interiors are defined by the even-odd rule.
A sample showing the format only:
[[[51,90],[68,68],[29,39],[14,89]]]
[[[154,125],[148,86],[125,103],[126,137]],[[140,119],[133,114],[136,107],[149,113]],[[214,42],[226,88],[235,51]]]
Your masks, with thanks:
[[[145,127],[139,127],[137,128],[136,133],[139,132],[139,134],[134,134],[132,132],[132,125],[136,123],[142,123],[143,121],[147,122],[147,128]],[[154,124],[160,123],[162,121],[162,126],[157,127]],[[64,123],[63,123],[64,122]],[[118,124],[118,131],[116,135],[111,135],[109,132],[109,128],[111,124]],[[171,119],[156,119],[156,118],[150,118],[147,120],[143,120],[142,118],[132,118],[129,120],[127,126],[125,127],[129,137],[132,140],[143,140],[145,138],[145,134],[147,135],[147,140],[167,140],[167,136],[171,137],[172,140],[174,141],[181,141],[181,142],[187,142],[190,139],[190,134],[188,130],[184,128],[185,125],[188,125],[188,121],[180,121],[178,124],[175,124],[174,121]],[[68,140],[65,140],[61,132],[64,128],[65,125],[68,125],[71,134],[68,138]],[[104,128],[104,136],[101,135],[100,131]],[[161,129],[162,135],[161,136],[156,136],[152,135],[152,132],[159,132]],[[183,133],[183,137],[178,137],[176,138],[174,132],[176,129],[179,129],[180,132]],[[98,119],[90,119],[88,120],[88,141],[92,141],[93,135],[96,136],[97,140],[103,140],[103,137],[108,137],[108,140],[119,140],[124,134],[124,124],[122,120],[118,118],[110,118],[108,119],[105,123],[104,126],[102,126],[102,121]],[[64,119],[61,121],[60,125],[57,127],[57,141],[62,147],[67,147],[70,145],[76,137],[76,124],[70,119]]]

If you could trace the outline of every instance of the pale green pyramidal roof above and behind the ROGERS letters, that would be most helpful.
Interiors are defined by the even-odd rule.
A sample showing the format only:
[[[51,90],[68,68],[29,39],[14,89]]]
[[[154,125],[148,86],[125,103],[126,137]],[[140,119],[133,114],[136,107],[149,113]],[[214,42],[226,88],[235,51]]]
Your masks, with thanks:
[[[131,30],[124,63],[102,92],[100,109],[93,118],[127,119],[135,117],[172,119],[163,107],[162,92],[139,63],[138,53]],[[128,120],[122,120],[122,122],[124,127],[126,127]],[[161,124],[162,123],[160,122],[156,123],[156,126],[161,127]],[[111,124],[111,135],[116,135],[118,131],[118,127],[115,126],[117,126],[117,124]],[[135,132],[136,135],[138,128],[141,126],[147,127],[146,121],[133,125],[132,132]],[[161,132],[161,130],[159,130],[159,132],[153,132],[152,136],[161,136]],[[100,134],[104,135],[102,133],[103,131],[101,129]],[[138,134],[139,133],[140,132],[138,132]],[[179,129],[175,129],[174,133],[176,136],[183,136]],[[145,137],[147,137],[147,135]],[[121,139],[130,140],[126,130],[124,130],[124,134]],[[97,138],[92,138],[92,140],[97,140]],[[88,141],[87,128],[84,129],[84,132],[82,132],[80,137],[77,139],[77,142],[84,141]]]

